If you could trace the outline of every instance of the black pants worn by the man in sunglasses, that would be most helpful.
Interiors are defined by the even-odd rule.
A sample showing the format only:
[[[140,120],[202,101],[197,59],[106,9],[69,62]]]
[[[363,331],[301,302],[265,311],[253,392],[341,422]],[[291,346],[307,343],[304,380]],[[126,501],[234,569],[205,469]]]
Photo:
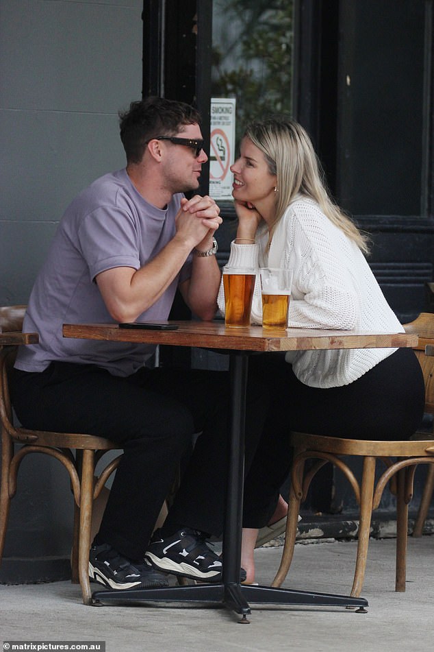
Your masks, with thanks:
[[[101,540],[127,557],[143,557],[179,461],[199,432],[164,527],[222,532],[227,372],[162,367],[120,378],[94,365],[55,362],[41,373],[14,370],[11,380],[12,402],[23,426],[100,435],[124,448]],[[247,396],[246,469],[263,430],[268,391],[252,382]]]

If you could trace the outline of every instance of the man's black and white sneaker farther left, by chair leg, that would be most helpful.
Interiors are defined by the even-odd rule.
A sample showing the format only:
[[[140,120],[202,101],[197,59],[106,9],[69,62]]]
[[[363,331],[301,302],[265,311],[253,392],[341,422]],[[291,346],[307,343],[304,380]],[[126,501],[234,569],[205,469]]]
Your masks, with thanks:
[[[112,589],[151,588],[168,586],[168,579],[144,560],[131,562],[122,557],[112,546],[92,544],[89,554],[89,578]]]

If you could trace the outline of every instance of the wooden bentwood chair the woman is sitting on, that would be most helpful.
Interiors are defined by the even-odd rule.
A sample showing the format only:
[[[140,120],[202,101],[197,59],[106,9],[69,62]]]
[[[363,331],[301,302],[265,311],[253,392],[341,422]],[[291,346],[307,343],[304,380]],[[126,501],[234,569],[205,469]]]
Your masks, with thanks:
[[[434,314],[421,313],[405,330],[416,332],[419,343],[416,355],[422,366],[425,380],[425,410],[434,413],[434,357],[425,353],[434,344]],[[372,433],[374,434],[374,433]],[[307,496],[307,490],[316,472],[327,462],[339,468],[350,482],[359,505],[359,533],[357,558],[351,596],[358,597],[363,586],[368,555],[368,542],[372,511],[379,507],[383,490],[391,481],[391,490],[396,493],[396,591],[405,591],[407,555],[408,505],[413,494],[413,477],[420,463],[429,463],[434,468],[434,441],[429,433],[415,433],[409,441],[383,442],[359,439],[341,439],[307,433],[291,433],[294,446],[292,483],[288,499],[288,521],[281,564],[272,586],[279,587],[285,579],[296,541],[299,508]],[[363,471],[359,483],[342,456],[363,457]],[[394,458],[392,460],[391,458]],[[316,459],[314,466],[304,472],[305,461]],[[375,483],[376,461],[382,461],[385,470]]]

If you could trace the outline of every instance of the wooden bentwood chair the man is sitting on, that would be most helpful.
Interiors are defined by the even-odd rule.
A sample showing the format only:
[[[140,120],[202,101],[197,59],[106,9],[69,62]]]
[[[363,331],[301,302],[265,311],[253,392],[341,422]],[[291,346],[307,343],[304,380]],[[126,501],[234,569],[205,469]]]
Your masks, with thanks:
[[[25,306],[0,308],[3,333],[21,330]],[[95,476],[97,461],[118,445],[103,437],[78,433],[51,433],[18,428],[12,422],[8,389],[8,372],[12,367],[16,346],[0,351],[0,419],[1,419],[1,487],[0,487],[0,562],[3,557],[10,501],[16,493],[18,468],[31,452],[58,459],[69,473],[74,495],[72,581],[80,583],[85,605],[92,604],[88,564],[91,544],[92,507],[105,482],[118,466],[121,455],[110,461]]]

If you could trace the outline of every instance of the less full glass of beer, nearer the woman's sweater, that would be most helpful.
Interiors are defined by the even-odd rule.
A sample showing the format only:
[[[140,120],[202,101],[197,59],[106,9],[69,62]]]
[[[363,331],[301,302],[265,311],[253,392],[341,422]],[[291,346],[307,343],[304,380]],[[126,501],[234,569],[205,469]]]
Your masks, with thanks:
[[[262,327],[287,328],[292,270],[263,267],[261,273]]]

